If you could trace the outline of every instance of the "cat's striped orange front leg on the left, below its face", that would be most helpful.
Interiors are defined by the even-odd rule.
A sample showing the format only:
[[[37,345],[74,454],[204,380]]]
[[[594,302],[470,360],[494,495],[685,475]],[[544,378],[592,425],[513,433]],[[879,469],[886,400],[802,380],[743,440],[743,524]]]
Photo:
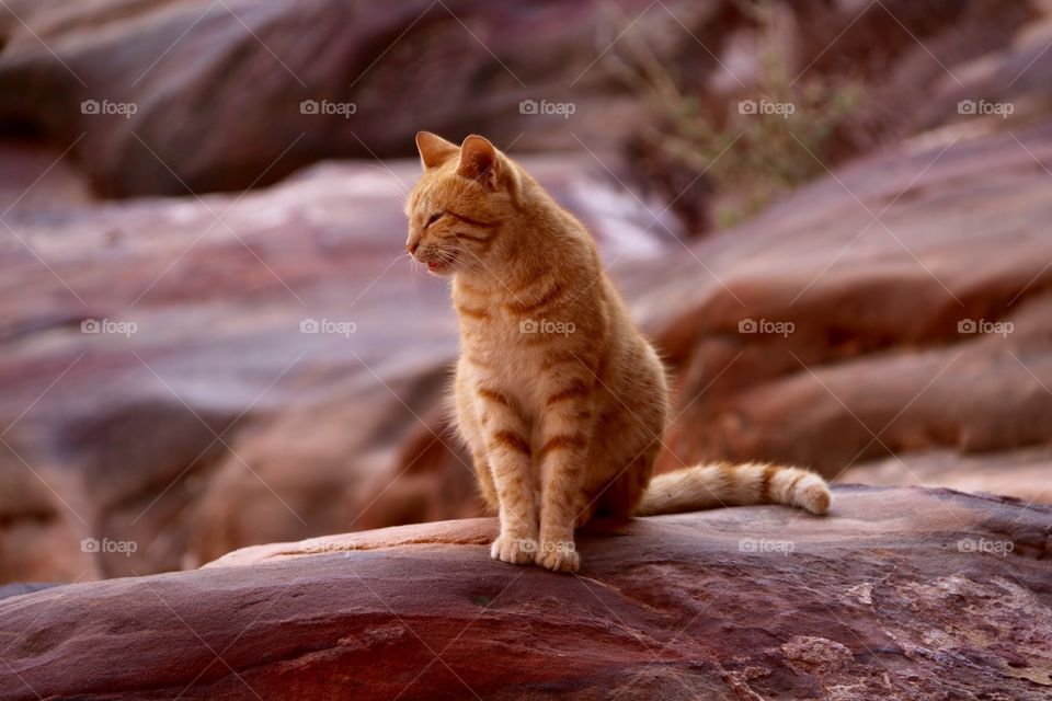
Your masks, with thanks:
[[[538,522],[528,427],[501,392],[480,383],[476,394],[501,521],[490,554],[515,564],[533,562]]]

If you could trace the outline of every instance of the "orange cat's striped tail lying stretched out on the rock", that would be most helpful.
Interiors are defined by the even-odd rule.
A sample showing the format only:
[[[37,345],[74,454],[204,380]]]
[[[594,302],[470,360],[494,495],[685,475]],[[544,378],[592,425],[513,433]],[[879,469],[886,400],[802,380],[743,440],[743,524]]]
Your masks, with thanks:
[[[634,513],[656,516],[720,506],[785,504],[825,514],[832,498],[825,480],[810,470],[757,462],[699,464],[655,475]]]

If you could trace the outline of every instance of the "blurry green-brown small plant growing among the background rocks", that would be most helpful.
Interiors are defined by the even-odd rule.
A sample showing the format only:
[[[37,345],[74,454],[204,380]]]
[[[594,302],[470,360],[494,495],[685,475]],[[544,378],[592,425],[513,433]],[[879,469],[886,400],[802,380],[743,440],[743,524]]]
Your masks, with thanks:
[[[702,95],[684,91],[636,37],[626,37],[631,68],[620,66],[620,74],[656,116],[658,126],[641,135],[642,148],[656,151],[652,161],[706,174],[714,191],[706,223],[718,228],[756,214],[778,195],[821,175],[832,159],[837,128],[856,114],[862,97],[861,88],[849,81],[833,85],[794,79],[777,50],[770,2],[743,0],[741,5],[758,27],[758,77],[737,101],[727,103],[725,114],[713,114],[702,105]]]

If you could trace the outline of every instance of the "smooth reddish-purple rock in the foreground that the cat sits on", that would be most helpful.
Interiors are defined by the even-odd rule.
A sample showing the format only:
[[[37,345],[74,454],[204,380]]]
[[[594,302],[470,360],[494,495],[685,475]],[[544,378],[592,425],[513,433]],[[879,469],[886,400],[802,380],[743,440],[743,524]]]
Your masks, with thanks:
[[[1052,509],[839,486],[597,522],[580,575],[492,519],[242,550],[0,601],[3,698],[1045,699]]]

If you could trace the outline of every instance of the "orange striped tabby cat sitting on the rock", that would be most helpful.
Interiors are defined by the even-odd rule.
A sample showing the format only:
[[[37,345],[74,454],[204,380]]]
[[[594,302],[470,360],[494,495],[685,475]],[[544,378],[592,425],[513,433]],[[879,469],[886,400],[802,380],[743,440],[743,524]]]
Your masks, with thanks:
[[[799,468],[653,475],[668,418],[665,368],[584,226],[481,136],[458,147],[421,131],[416,146],[423,174],[405,203],[405,248],[451,277],[455,417],[500,517],[494,559],[576,572],[574,529],[597,514],[768,503],[828,510],[825,481]]]

